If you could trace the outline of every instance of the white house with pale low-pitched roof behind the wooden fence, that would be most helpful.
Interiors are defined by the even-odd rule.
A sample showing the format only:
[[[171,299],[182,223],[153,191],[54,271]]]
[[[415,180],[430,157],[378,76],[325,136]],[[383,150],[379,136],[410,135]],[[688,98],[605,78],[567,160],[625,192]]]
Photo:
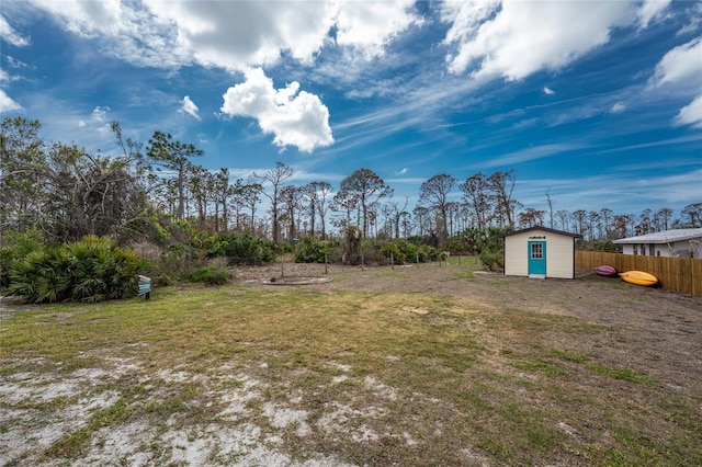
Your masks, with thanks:
[[[702,258],[702,228],[664,230],[614,240],[624,254],[668,258]]]

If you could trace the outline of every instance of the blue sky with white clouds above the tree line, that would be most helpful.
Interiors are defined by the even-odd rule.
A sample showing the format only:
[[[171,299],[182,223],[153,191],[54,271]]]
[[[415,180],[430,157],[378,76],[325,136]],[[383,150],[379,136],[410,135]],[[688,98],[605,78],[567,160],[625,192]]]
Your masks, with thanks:
[[[524,207],[702,202],[702,2],[3,0],[0,35],[2,117],[47,140],[114,152],[117,121],[236,178],[369,168],[409,206],[512,169]]]

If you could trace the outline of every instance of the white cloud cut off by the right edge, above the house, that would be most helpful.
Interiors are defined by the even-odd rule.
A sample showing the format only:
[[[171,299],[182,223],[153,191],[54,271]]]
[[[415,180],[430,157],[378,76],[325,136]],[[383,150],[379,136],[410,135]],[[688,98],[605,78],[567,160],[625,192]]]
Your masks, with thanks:
[[[669,50],[656,65],[653,86],[690,81],[699,89],[702,82],[702,37]]]

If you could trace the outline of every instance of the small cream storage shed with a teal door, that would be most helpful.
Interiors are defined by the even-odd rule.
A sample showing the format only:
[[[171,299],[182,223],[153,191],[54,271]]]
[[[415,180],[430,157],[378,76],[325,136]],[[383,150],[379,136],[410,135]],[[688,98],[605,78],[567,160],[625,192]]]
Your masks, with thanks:
[[[505,275],[575,278],[575,242],[582,236],[530,227],[505,238]]]

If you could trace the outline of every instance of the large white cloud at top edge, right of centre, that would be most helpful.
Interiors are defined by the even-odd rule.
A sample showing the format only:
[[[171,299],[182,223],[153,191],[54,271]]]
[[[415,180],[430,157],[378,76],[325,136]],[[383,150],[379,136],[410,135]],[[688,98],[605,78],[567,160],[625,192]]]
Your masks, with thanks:
[[[520,80],[557,70],[605,44],[613,27],[631,23],[632,3],[624,1],[461,2],[444,10],[453,20],[444,44],[453,73]]]

